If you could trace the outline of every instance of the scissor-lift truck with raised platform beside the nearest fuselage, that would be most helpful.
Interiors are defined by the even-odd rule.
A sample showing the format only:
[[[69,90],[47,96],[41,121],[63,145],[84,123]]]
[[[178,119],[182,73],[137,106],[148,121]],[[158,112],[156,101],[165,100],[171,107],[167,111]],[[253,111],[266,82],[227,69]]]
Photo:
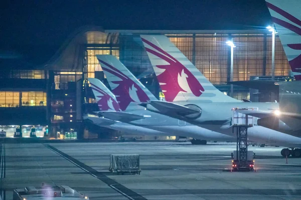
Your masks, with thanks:
[[[252,108],[233,108],[232,125],[236,133],[236,150],[233,152],[232,169],[234,171],[253,171],[253,151],[248,151],[248,127],[253,126],[253,116],[242,114],[239,110]]]

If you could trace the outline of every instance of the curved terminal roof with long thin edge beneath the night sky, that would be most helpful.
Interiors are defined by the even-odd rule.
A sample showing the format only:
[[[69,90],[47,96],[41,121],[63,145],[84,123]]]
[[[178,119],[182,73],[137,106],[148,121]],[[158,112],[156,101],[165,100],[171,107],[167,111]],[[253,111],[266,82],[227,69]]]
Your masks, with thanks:
[[[22,57],[22,59],[2,59],[0,67],[14,66],[23,69],[49,70],[81,70],[84,58],[83,48],[88,44],[109,44],[110,37],[118,34],[260,34],[268,33],[266,29],[241,30],[118,30],[103,29],[101,26],[82,26],[72,32],[65,42],[56,49],[44,46],[36,56]],[[47,52],[46,52],[47,51]],[[52,55],[52,56],[51,56]],[[26,60],[31,60],[32,63]]]

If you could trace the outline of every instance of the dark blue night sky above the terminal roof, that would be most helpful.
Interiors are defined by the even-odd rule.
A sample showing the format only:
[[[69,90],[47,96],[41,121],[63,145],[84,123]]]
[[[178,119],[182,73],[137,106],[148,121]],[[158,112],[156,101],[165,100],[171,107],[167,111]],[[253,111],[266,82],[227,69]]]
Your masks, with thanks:
[[[252,29],[270,22],[264,0],[5,0],[0,17],[1,52],[16,51],[29,61],[41,51],[50,57],[83,25]]]

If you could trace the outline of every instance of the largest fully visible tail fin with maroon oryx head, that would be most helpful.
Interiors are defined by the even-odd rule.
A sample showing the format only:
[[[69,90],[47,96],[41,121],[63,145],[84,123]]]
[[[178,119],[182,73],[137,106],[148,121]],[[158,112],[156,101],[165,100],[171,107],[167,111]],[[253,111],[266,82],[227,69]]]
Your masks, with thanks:
[[[140,35],[167,101],[238,101],[219,91],[165,35]]]

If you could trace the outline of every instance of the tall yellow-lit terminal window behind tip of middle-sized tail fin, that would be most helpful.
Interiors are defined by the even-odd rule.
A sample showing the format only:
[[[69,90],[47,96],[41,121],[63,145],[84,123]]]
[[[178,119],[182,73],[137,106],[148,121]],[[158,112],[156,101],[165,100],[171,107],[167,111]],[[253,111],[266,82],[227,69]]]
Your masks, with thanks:
[[[103,54],[112,54],[119,59],[119,50],[114,49],[110,50],[109,47],[101,47],[101,49],[88,49],[87,50],[87,67],[88,67],[88,77],[94,78],[95,77],[95,71],[102,71],[102,68],[97,60],[96,55],[103,55]]]

